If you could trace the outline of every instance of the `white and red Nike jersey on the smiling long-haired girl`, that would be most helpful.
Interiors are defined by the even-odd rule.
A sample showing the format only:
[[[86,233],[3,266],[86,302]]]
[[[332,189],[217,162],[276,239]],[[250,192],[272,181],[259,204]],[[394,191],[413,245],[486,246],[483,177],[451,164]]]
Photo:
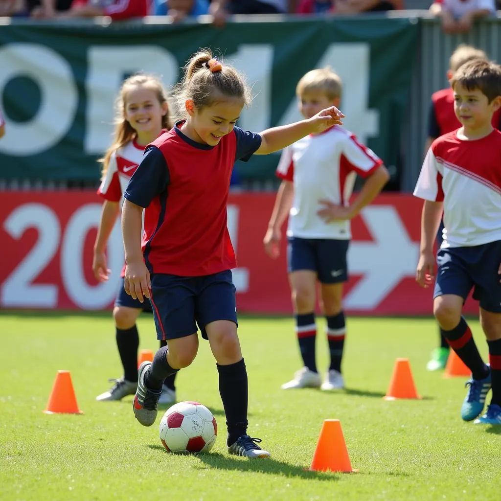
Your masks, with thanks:
[[[144,146],[139,146],[135,141],[130,141],[125,146],[111,154],[106,176],[98,189],[106,200],[111,202],[123,201],[123,192],[143,158]]]

